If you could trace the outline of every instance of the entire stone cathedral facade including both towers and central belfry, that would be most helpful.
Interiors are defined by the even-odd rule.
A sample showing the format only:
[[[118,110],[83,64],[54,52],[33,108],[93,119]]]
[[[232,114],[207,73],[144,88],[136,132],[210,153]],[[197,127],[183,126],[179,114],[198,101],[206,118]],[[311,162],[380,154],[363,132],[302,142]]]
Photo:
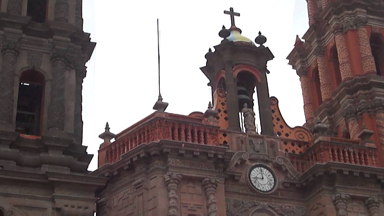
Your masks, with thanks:
[[[120,133],[107,123],[91,173],[81,0],[36,2],[1,1],[0,216],[384,216],[382,0],[307,0],[287,57],[306,119],[293,128],[268,93],[267,38],[243,36],[230,8],[200,68],[207,110],[167,113],[159,95]]]

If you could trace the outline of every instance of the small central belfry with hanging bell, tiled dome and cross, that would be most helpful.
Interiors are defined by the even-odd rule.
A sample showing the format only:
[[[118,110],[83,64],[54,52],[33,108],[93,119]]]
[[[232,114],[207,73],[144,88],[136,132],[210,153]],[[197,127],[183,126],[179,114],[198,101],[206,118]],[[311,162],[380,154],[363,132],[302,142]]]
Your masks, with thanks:
[[[241,35],[240,28],[235,26],[235,16],[239,13],[224,13],[231,16],[231,27],[219,32],[222,42],[215,46],[215,51],[205,55],[207,65],[200,68],[207,76],[212,87],[214,109],[219,111],[217,119],[222,129],[240,131],[239,112],[247,104],[253,109],[253,93],[257,87],[258,105],[262,135],[274,136],[271,117],[270,99],[266,74],[266,63],[274,56],[263,44],[266,38],[259,33],[255,39],[258,47],[247,37]],[[220,92],[225,98],[219,101]],[[222,95],[222,94],[221,94]]]

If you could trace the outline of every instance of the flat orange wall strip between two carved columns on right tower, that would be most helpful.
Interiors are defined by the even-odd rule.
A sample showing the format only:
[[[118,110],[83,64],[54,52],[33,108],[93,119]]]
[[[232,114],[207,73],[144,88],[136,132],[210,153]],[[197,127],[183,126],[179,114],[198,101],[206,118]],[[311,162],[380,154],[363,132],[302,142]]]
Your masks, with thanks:
[[[362,75],[363,67],[361,62],[361,54],[358,42],[358,33],[356,30],[349,30],[344,34],[345,43],[347,45],[349,62],[351,62],[352,73],[354,76]]]

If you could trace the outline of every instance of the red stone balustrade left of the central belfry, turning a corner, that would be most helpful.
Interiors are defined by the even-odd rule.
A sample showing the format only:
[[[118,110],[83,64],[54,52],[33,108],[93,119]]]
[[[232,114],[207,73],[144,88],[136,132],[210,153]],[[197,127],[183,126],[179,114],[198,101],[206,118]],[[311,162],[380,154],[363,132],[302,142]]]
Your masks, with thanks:
[[[120,160],[120,156],[142,143],[173,140],[202,145],[219,144],[219,127],[203,117],[170,113],[153,113],[118,135],[106,148],[106,163]]]

